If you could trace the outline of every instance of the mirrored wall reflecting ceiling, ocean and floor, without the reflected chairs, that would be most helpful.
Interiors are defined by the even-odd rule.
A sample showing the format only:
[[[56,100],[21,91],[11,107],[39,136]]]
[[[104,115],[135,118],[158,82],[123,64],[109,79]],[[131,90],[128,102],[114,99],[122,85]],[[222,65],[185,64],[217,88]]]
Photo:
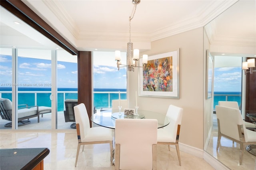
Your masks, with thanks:
[[[222,137],[216,150],[218,125],[215,106],[218,101],[237,101],[242,119],[246,119],[245,82],[248,77],[242,72],[242,61],[256,57],[256,1],[239,0],[204,26],[206,49],[214,58],[214,96],[204,103],[204,150],[230,169],[254,170],[256,156],[246,149],[239,165],[240,146],[237,142]]]

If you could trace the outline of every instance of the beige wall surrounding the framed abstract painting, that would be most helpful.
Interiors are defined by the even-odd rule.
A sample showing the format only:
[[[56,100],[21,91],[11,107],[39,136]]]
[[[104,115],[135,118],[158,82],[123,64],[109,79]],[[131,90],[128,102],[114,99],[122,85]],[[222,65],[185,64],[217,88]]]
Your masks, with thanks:
[[[180,143],[203,149],[204,56],[203,28],[197,28],[157,40],[151,50],[142,54],[156,55],[180,49],[180,99],[138,97],[139,109],[166,114],[170,104],[183,108]],[[135,106],[138,92],[138,70],[128,73],[130,108]]]

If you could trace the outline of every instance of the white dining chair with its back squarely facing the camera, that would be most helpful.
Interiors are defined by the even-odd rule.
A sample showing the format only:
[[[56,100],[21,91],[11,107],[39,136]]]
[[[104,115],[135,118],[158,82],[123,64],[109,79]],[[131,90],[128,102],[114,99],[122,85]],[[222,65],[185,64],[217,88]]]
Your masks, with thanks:
[[[116,119],[115,170],[156,170],[156,119]]]

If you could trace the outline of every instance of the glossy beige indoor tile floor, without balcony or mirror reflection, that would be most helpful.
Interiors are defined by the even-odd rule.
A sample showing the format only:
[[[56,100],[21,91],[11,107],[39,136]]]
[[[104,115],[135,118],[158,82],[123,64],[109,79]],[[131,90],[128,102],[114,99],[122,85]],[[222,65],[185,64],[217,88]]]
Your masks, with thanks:
[[[108,144],[86,145],[76,159],[76,130],[0,130],[0,148],[42,148],[50,149],[44,159],[45,170],[114,170],[110,164]],[[157,146],[158,170],[214,170],[202,158],[180,152],[182,166],[179,166],[176,150],[165,145]],[[138,158],[140,159],[140,158]]]

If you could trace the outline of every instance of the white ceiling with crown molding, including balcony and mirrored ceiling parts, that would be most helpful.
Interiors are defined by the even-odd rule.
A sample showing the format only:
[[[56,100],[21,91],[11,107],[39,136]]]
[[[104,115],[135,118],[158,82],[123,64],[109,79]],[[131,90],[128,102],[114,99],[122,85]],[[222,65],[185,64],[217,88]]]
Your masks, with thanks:
[[[129,16],[134,8],[132,0],[22,1],[80,51],[126,51],[129,41]],[[255,0],[240,1],[246,2],[247,6],[234,9],[234,14],[231,15],[236,15],[243,24],[237,26],[221,20],[218,24],[212,23],[208,29],[211,43],[223,42],[224,39],[235,43],[239,36],[240,40],[255,45],[255,22],[246,25],[248,18],[240,17],[245,10],[246,14],[252,16],[249,19],[255,19]],[[141,0],[131,21],[131,42],[142,51],[148,50],[152,41],[205,26],[235,2],[237,0]],[[241,12],[237,13],[237,10]],[[3,8],[0,12],[1,47],[18,47],[19,43],[23,48],[30,45],[39,49],[56,47],[46,45],[42,36],[31,35],[33,32],[28,28],[20,31],[12,23],[13,18],[7,19]],[[246,28],[246,32],[241,28]],[[17,36],[18,39],[14,38]]]

